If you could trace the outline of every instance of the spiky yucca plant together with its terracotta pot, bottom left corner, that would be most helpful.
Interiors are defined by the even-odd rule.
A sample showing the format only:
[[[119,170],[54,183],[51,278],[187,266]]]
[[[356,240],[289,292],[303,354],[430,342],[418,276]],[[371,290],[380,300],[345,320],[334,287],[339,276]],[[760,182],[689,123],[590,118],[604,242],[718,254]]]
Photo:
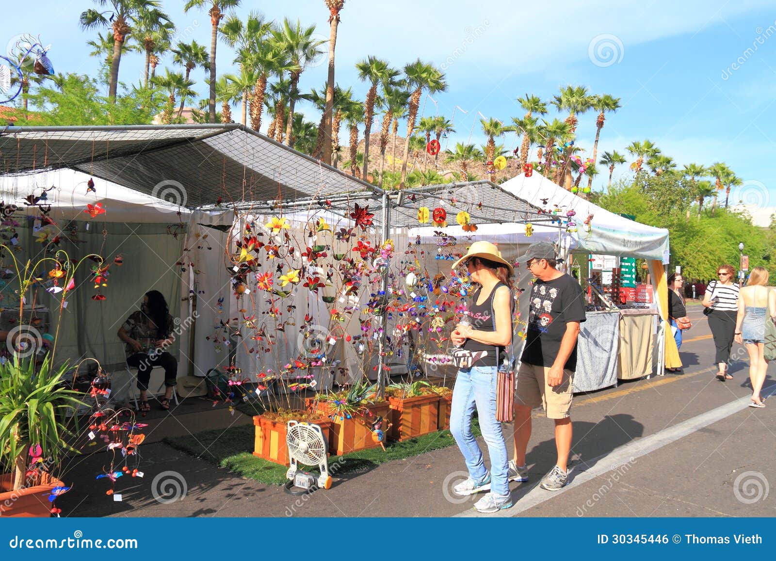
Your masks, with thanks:
[[[0,364],[0,515],[48,516],[46,493],[62,487],[55,473],[75,432],[68,419],[80,403],[62,383],[68,364],[50,356],[13,356]],[[77,427],[75,427],[77,430]]]

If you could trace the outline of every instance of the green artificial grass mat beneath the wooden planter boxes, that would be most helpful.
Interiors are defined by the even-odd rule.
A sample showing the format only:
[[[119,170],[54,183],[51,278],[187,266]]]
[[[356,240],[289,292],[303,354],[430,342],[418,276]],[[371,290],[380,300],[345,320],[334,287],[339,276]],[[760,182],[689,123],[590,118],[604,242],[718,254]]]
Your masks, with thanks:
[[[480,436],[480,424],[476,417],[472,421],[472,431]],[[243,477],[266,485],[286,483],[286,468],[268,462],[251,454],[255,436],[252,424],[227,428],[227,430],[203,431],[192,436],[165,438],[165,443],[197,458],[204,459],[217,466],[230,469]],[[437,431],[428,435],[411,438],[404,442],[387,442],[383,448],[369,448],[352,454],[329,456],[329,471],[337,477],[343,473],[366,472],[382,463],[397,459],[411,458],[424,452],[452,446],[456,441],[450,431]],[[305,471],[317,472],[317,467],[305,466]]]

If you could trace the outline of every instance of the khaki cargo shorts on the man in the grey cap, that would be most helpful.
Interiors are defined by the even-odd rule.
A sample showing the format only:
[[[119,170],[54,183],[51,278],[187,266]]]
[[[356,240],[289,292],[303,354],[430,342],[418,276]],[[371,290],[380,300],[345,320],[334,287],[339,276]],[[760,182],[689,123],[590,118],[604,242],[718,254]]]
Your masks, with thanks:
[[[569,416],[573,399],[574,373],[563,370],[563,381],[559,386],[547,385],[549,366],[537,366],[523,362],[518,370],[515,405],[530,405],[542,408],[549,419],[565,419]]]

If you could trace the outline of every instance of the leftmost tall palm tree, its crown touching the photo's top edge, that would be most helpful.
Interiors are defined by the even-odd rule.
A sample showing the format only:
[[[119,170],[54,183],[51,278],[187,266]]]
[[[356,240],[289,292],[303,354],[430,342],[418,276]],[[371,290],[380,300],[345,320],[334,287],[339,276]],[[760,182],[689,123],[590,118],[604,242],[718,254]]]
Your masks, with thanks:
[[[116,90],[119,84],[119,65],[126,36],[133,32],[140,19],[147,12],[155,12],[158,26],[170,21],[170,18],[161,12],[159,0],[95,0],[100,6],[109,5],[111,9],[99,12],[93,8],[81,12],[80,23],[82,29],[94,29],[96,27],[109,27],[113,30],[113,57],[110,61],[110,78],[108,82],[108,98],[116,102]]]

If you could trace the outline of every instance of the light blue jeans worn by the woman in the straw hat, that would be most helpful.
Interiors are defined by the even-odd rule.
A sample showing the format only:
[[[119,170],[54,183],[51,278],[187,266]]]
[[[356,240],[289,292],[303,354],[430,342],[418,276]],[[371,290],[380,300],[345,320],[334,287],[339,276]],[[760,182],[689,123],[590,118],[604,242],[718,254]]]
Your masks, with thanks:
[[[502,497],[509,495],[509,458],[501,423],[496,421],[495,366],[474,366],[458,371],[456,387],[452,390],[450,432],[466,460],[469,477],[481,481],[487,475],[483,453],[472,435],[472,414],[476,407],[480,429],[490,454],[490,490]]]

